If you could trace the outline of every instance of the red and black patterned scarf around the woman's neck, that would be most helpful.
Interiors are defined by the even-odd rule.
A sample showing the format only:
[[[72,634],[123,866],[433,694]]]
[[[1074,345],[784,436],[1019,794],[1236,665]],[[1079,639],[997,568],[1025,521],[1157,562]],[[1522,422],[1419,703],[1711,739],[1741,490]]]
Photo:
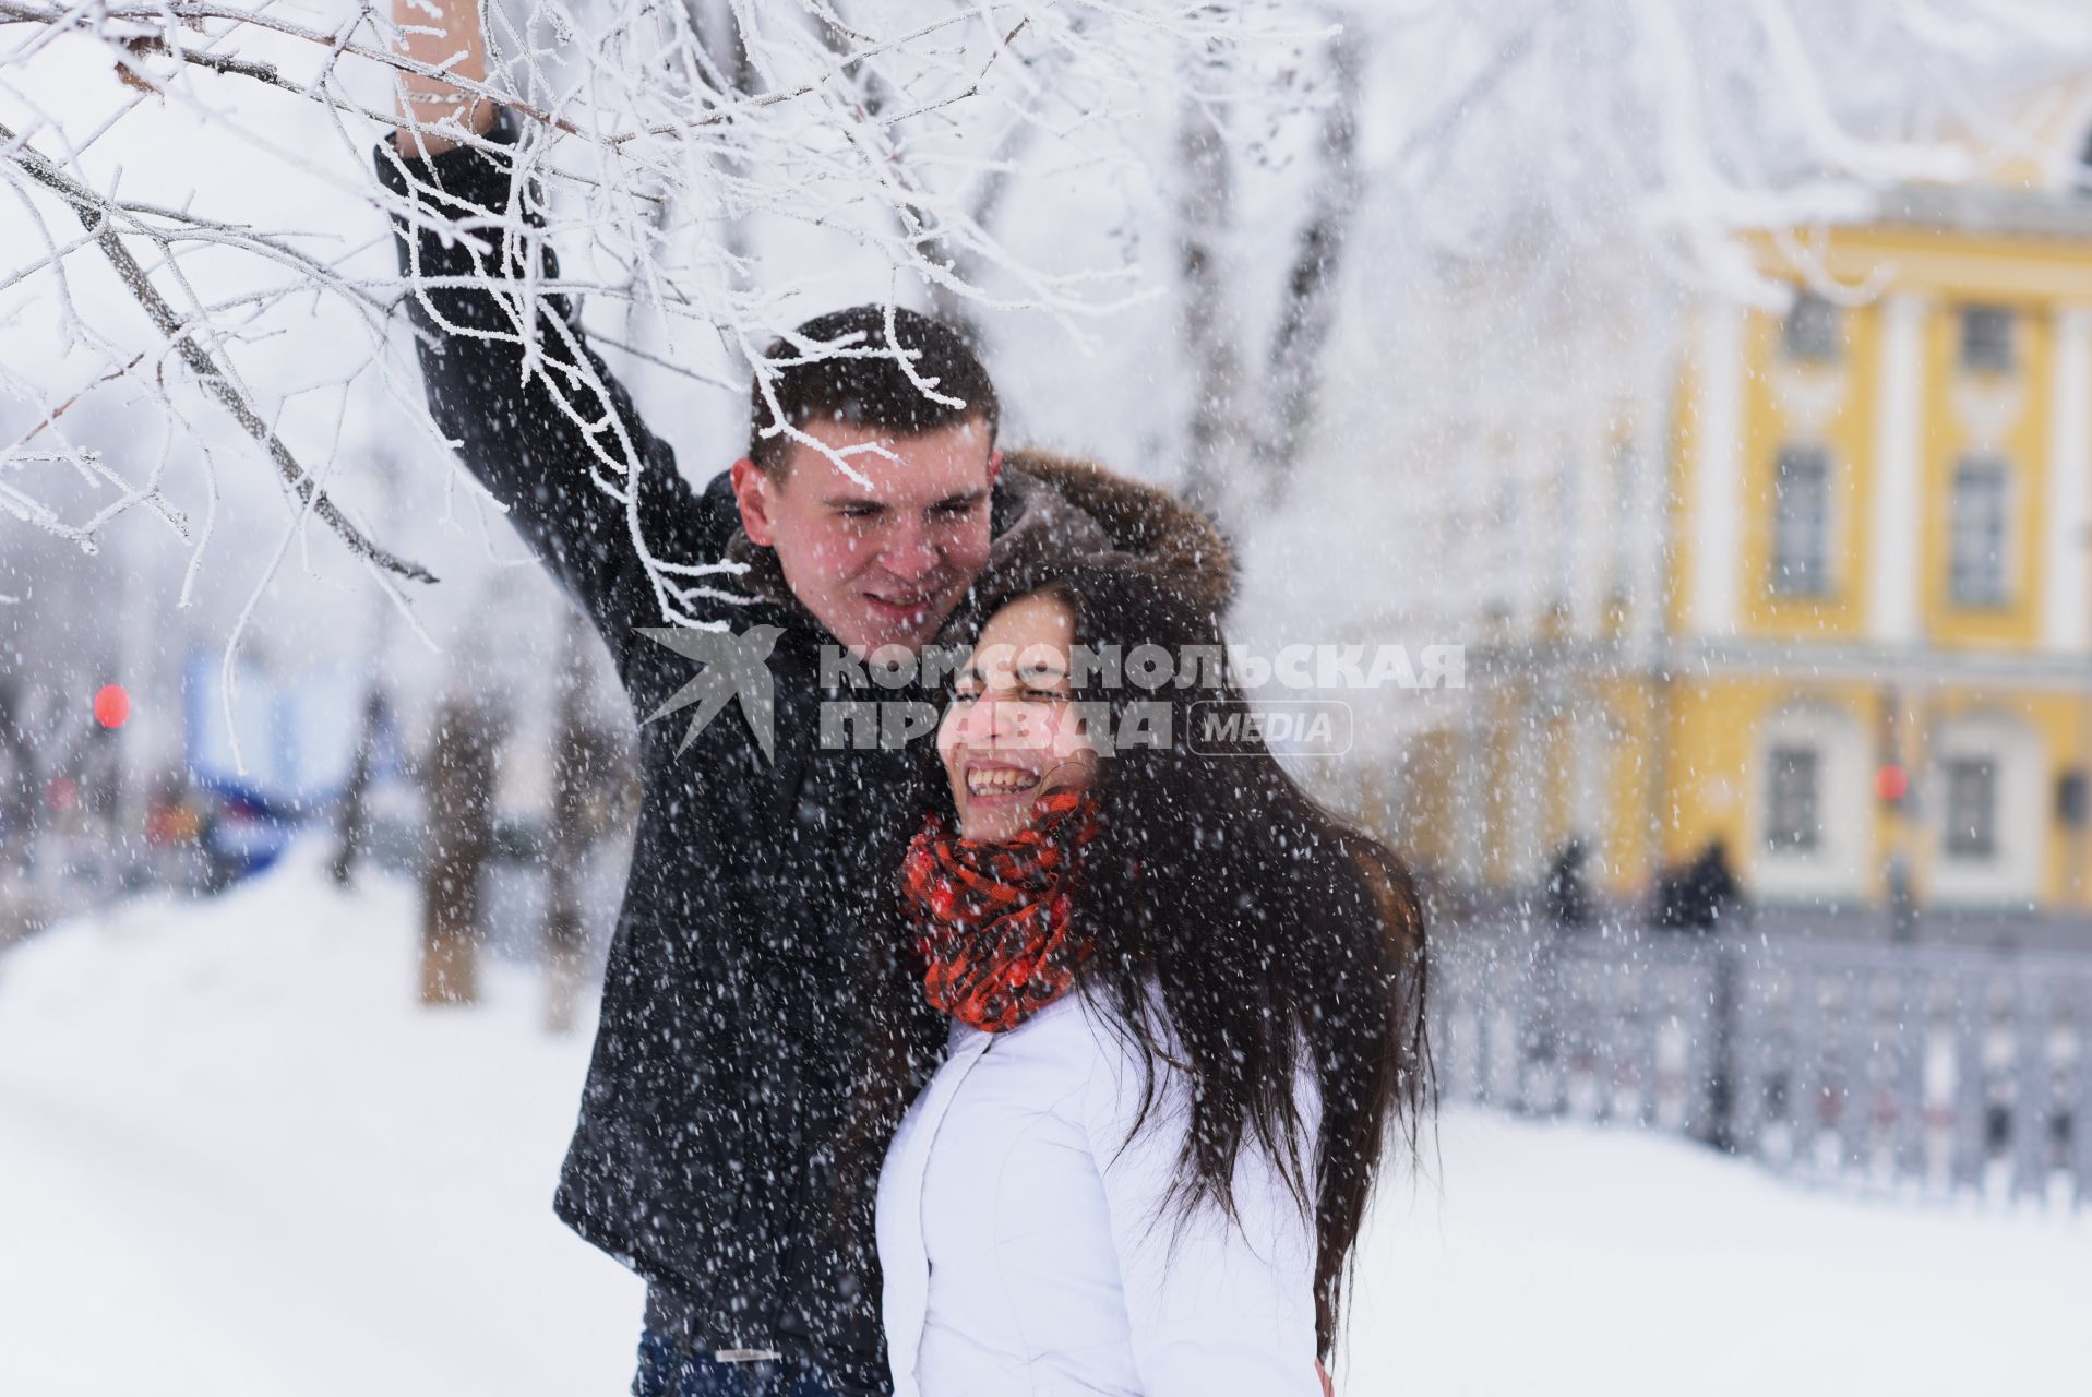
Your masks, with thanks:
[[[902,860],[902,908],[923,958],[923,993],[960,1023],[1015,1029],[1059,1000],[1090,954],[1071,931],[1069,887],[1096,839],[1096,799],[1040,797],[1036,820],[1006,845],[956,839],[929,820]]]

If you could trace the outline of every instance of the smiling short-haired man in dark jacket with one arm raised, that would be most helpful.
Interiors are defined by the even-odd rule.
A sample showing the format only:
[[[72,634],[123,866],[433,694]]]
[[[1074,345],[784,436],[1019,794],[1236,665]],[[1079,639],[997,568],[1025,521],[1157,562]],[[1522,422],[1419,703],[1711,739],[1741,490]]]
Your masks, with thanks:
[[[471,0],[402,21],[433,33],[408,56],[485,73]],[[456,111],[496,144],[513,117],[439,79],[410,79],[418,123]],[[1023,575],[1056,556],[1125,550],[1224,598],[1232,569],[1205,521],[1161,491],[1092,466],[996,448],[1000,406],[948,326],[893,314],[929,399],[893,358],[784,368],[772,391],[799,433],[766,435],[753,395],[749,454],[705,491],[676,471],[563,301],[536,324],[490,289],[429,284],[519,276],[487,209],[508,207],[504,161],[416,134],[379,146],[381,180],[418,207],[402,217],[410,314],[444,435],[594,621],[636,715],[669,703],[699,665],[638,634],[663,625],[657,575],[611,487],[640,466],[632,517],[669,583],[713,583],[749,602],[678,598],[682,615],[734,632],[774,627],[774,759],[738,711],[688,734],[642,728],[644,801],[605,972],[602,1018],[554,1207],[584,1238],[649,1280],[634,1391],[887,1391],[870,1238],[831,1228],[826,1165],[843,1123],[864,933],[883,924],[900,845],[925,809],[904,751],[820,740],[820,652],[918,650],[985,571]],[[441,236],[433,224],[448,224]],[[552,253],[529,247],[544,276]],[[801,326],[816,341],[887,343],[887,312],[856,307]],[[544,360],[525,372],[527,343]],[[586,374],[571,372],[586,366]],[[602,385],[598,393],[594,385]],[[586,427],[584,427],[586,425]],[[839,468],[849,456],[864,481]],[[738,577],[678,573],[728,556]],[[925,1050],[941,1025],[925,1016]],[[519,1338],[527,1341],[527,1336]]]

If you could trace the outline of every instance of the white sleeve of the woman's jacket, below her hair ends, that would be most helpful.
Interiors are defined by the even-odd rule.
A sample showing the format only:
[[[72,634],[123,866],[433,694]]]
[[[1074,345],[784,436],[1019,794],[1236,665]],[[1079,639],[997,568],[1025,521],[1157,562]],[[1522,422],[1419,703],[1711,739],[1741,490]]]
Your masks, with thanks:
[[[1138,1133],[1140,1064],[1115,1044],[1090,1092],[1090,1148],[1105,1182],[1134,1366],[1146,1397],[1320,1397],[1314,1328],[1314,1217],[1272,1159],[1245,1146],[1236,1219],[1205,1203],[1182,1217],[1169,1198],[1190,1123],[1188,1092],[1167,1073]],[[1312,1085],[1303,1121],[1314,1131]]]

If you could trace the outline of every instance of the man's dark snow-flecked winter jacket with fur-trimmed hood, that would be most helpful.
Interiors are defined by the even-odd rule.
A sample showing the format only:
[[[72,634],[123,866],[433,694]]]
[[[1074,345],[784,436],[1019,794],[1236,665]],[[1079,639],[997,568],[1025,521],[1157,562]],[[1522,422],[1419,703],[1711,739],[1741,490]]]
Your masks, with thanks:
[[[768,550],[747,554],[726,475],[705,489],[682,475],[588,345],[567,297],[542,297],[536,326],[519,320],[502,278],[556,282],[559,261],[536,236],[542,222],[529,201],[519,209],[531,236],[515,257],[485,236],[485,211],[510,207],[502,146],[515,138],[504,109],[490,134],[494,153],[456,146],[400,159],[389,140],[372,153],[400,201],[400,266],[414,287],[404,301],[420,330],[435,425],[596,625],[636,715],[653,713],[695,667],[634,636],[661,625],[661,609],[623,502],[596,483],[607,468],[582,422],[621,425],[598,433],[613,456],[632,443],[638,525],[657,558],[730,554],[755,565],[743,579],[755,600],[718,602],[711,615],[734,629],[780,627],[770,655],[774,763],[761,759],[738,705],[682,753],[682,717],[640,728],[638,843],[554,1207],[651,1282],[649,1324],[678,1341],[778,1349],[833,1387],[883,1391],[870,1238],[826,1228],[822,1161],[856,1062],[833,1025],[856,1018],[858,939],[883,924],[866,899],[891,897],[902,845],[929,805],[923,763],[904,751],[820,742],[818,655],[831,636],[782,588]],[[544,364],[529,368],[525,339],[554,364],[565,353],[550,316],[573,335],[607,399],[561,374],[573,408],[561,410]],[[1086,462],[1010,450],[990,510],[983,592],[992,577],[1098,546],[1190,579],[1215,602],[1232,588],[1211,525],[1163,491]],[[929,1010],[923,1018],[927,1054],[943,1025]]]

